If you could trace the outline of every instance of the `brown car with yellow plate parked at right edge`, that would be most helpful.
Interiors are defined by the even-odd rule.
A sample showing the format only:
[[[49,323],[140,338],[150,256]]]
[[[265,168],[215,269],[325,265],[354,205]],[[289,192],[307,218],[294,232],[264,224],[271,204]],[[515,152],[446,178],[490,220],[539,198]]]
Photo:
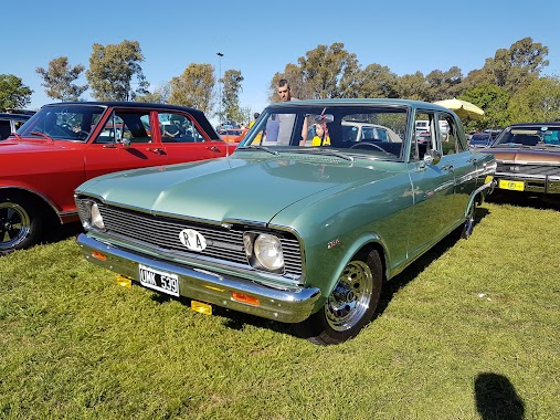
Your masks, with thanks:
[[[560,193],[560,123],[514,124],[485,151],[496,158],[498,189]]]

